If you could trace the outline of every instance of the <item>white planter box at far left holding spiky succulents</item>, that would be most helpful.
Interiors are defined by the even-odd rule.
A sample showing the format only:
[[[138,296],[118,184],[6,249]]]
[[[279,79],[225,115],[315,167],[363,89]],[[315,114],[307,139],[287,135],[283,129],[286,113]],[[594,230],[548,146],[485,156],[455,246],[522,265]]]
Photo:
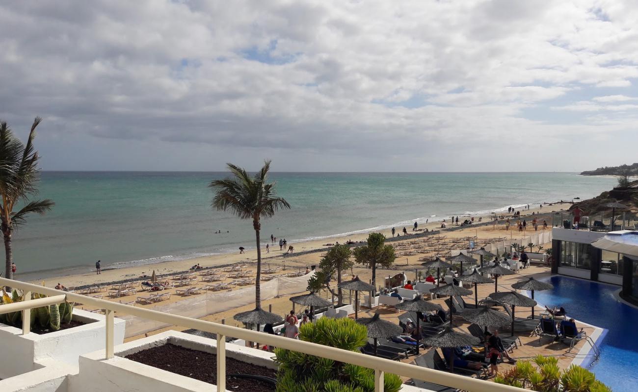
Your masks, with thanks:
[[[73,319],[84,325],[43,335],[28,333],[13,326],[0,324],[0,342],[4,361],[0,367],[0,379],[24,374],[42,367],[40,361],[56,359],[77,366],[78,356],[103,349],[105,345],[105,316],[86,310],[74,309]],[[115,344],[124,341],[124,320],[115,319]]]

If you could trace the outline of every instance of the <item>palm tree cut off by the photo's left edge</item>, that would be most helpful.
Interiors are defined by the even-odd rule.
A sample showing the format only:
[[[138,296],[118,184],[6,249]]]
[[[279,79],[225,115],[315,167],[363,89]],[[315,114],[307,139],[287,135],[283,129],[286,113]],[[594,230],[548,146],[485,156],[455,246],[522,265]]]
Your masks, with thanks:
[[[36,184],[40,174],[40,156],[34,150],[33,140],[41,120],[36,117],[33,121],[26,145],[13,135],[6,122],[0,122],[0,230],[4,237],[5,276],[8,279],[13,279],[13,231],[26,223],[27,215],[32,212],[44,214],[54,206],[54,202],[48,199],[29,201],[29,196],[38,193]],[[24,206],[18,212],[13,212],[17,204],[23,203]]]

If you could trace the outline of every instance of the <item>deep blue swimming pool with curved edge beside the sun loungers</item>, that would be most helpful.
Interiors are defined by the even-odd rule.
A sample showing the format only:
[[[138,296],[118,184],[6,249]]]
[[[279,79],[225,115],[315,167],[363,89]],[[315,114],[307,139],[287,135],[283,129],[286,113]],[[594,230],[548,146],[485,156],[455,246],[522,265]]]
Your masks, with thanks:
[[[567,315],[607,329],[600,344],[600,359],[590,368],[614,392],[638,390],[638,309],[614,297],[620,287],[553,276],[542,279],[553,290],[536,291],[542,305],[563,306]]]

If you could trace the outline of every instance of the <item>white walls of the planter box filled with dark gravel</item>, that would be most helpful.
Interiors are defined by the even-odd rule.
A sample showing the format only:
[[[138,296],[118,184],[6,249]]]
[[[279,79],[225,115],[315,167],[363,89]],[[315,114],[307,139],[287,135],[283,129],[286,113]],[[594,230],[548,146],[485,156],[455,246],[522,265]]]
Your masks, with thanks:
[[[134,352],[175,344],[198,351],[217,351],[217,341],[182,333],[166,331],[151,337],[134,340],[115,347],[115,358],[104,359],[104,351],[96,351],[80,356],[80,372],[70,380],[68,392],[210,392],[215,386],[207,382],[167,372],[123,358]],[[274,354],[263,350],[226,344],[226,357],[245,363],[276,369],[272,361]]]

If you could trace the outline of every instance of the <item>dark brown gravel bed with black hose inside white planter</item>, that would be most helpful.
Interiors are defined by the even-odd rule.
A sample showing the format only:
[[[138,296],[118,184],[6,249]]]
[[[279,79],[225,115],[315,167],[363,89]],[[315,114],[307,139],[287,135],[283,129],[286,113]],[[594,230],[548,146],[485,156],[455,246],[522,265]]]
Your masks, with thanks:
[[[217,355],[210,352],[187,349],[167,343],[129,354],[124,358],[185,375],[191,379],[217,384]],[[251,365],[226,356],[226,389],[251,392],[272,392],[275,390],[274,386],[267,382],[229,377],[228,374],[262,375],[276,379],[276,370]]]

